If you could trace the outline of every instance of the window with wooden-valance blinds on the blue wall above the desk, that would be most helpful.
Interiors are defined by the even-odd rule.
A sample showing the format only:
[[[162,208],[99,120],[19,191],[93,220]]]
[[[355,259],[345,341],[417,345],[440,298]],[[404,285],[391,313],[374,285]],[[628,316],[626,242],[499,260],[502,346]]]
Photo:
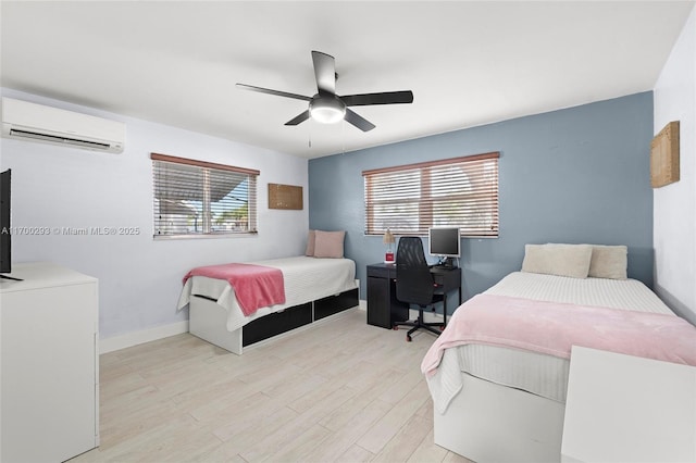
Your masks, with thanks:
[[[462,236],[498,236],[498,158],[471,155],[364,171],[365,234],[387,228],[426,235],[458,226]]]

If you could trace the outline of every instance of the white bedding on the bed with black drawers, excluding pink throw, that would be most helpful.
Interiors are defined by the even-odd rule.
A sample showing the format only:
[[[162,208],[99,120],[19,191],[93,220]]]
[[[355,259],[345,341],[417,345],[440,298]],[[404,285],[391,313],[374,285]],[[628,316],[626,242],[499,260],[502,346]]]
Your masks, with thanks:
[[[212,299],[225,308],[227,330],[234,331],[269,313],[281,312],[287,308],[358,287],[356,263],[350,259],[316,259],[299,255],[246,263],[274,267],[283,272],[285,303],[261,308],[250,316],[245,316],[235,297],[234,288],[226,280],[192,276],[182,289],[178,309],[185,308],[194,296]]]

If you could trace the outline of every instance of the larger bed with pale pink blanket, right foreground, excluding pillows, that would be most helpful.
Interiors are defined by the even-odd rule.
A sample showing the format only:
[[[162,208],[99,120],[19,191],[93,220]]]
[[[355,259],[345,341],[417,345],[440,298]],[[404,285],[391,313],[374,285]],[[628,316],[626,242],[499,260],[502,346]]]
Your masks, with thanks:
[[[458,308],[421,365],[435,443],[477,463],[560,461],[573,345],[696,364],[696,328],[622,265],[616,278],[523,265]]]

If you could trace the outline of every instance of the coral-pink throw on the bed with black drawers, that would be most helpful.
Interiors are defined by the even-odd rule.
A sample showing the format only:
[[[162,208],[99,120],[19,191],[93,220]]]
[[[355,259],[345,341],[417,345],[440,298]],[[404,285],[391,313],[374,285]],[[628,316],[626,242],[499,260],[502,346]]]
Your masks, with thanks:
[[[252,264],[222,264],[196,267],[184,277],[191,276],[225,279],[235,289],[241,312],[249,316],[268,305],[285,303],[283,272],[278,268]]]

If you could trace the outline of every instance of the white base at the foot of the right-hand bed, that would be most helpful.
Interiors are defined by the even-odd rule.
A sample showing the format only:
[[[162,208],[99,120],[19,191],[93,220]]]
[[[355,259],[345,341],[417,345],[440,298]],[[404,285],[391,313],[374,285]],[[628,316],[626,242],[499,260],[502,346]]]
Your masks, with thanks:
[[[559,462],[566,404],[462,373],[462,390],[434,412],[435,443],[476,463]]]

